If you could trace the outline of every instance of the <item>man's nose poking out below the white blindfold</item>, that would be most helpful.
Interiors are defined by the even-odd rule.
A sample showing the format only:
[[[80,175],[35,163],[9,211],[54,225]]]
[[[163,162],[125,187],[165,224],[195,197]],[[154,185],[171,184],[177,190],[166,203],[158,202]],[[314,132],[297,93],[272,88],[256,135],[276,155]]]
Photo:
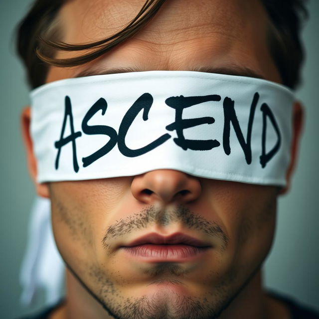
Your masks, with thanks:
[[[135,176],[131,189],[133,196],[146,204],[188,203],[199,197],[201,184],[197,177],[181,171],[157,169]]]

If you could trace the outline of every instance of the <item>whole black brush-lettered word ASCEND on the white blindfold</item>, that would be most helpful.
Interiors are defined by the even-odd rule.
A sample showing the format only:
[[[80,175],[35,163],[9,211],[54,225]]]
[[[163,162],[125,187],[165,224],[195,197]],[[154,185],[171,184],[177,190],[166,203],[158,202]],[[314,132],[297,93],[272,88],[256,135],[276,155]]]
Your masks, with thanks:
[[[247,124],[247,134],[246,138],[244,138],[242,132],[242,124],[238,121],[236,111],[235,111],[235,101],[229,97],[225,97],[223,100],[223,114],[224,114],[224,127],[223,127],[223,150],[227,156],[231,154],[231,147],[230,147],[230,129],[231,126],[234,129],[236,134],[238,143],[240,144],[245,160],[247,164],[251,164],[252,162],[252,146],[251,146],[251,137],[252,137],[252,128],[253,122],[255,118],[257,104],[259,102],[259,93],[256,92],[253,96],[251,106],[250,106],[250,113],[248,118]],[[107,155],[116,144],[118,144],[118,149],[121,154],[125,157],[133,158],[144,155],[157,147],[161,144],[165,143],[168,139],[171,138],[170,134],[166,133],[160,136],[155,141],[151,142],[150,144],[133,150],[127,147],[125,139],[127,137],[128,131],[132,126],[133,122],[136,120],[137,116],[142,112],[142,117],[144,121],[148,121],[149,119],[149,112],[153,105],[153,97],[150,93],[144,93],[141,95],[134,104],[128,109],[126,114],[124,115],[119,131],[117,131],[106,125],[89,125],[89,121],[95,116],[96,113],[101,111],[102,116],[106,114],[108,104],[104,98],[100,98],[96,101],[88,110],[86,115],[82,121],[82,131],[86,135],[104,135],[110,138],[110,140],[99,150],[94,152],[93,154],[83,157],[83,167],[89,166],[94,161],[102,158],[103,156]],[[183,119],[183,110],[198,105],[204,102],[219,102],[221,101],[220,95],[205,95],[205,96],[172,96],[165,100],[165,103],[168,107],[173,108],[175,110],[175,119],[173,123],[170,123],[166,126],[167,131],[176,131],[177,138],[174,138],[174,143],[182,148],[184,151],[190,149],[193,151],[207,151],[212,150],[213,148],[219,147],[220,143],[217,140],[188,140],[184,137],[184,130],[197,127],[202,124],[213,124],[215,123],[215,119],[213,117],[200,117],[194,119]],[[260,164],[263,168],[266,167],[267,163],[272,160],[272,158],[279,152],[282,137],[281,132],[278,126],[278,123],[275,119],[275,116],[269,106],[266,103],[263,103],[260,108],[262,112],[262,152],[260,156]],[[248,114],[247,114],[248,115]],[[156,120],[156,119],[155,119]],[[64,137],[65,129],[67,125],[67,121],[69,121],[70,127],[70,135]],[[266,150],[266,140],[267,140],[267,125],[271,123],[273,130],[277,135],[277,142],[272,147],[270,151],[267,152]],[[268,128],[269,129],[269,128]],[[55,159],[55,169],[59,168],[59,160],[61,156],[62,148],[67,145],[68,143],[72,143],[72,152],[73,152],[73,168],[75,172],[79,171],[79,165],[77,162],[77,150],[76,150],[76,139],[81,137],[82,133],[80,131],[74,131],[74,123],[73,123],[73,115],[72,115],[72,105],[71,100],[68,96],[65,97],[65,110],[64,110],[64,118],[62,123],[62,129],[60,134],[60,139],[54,143],[55,148],[57,149],[57,155]]]

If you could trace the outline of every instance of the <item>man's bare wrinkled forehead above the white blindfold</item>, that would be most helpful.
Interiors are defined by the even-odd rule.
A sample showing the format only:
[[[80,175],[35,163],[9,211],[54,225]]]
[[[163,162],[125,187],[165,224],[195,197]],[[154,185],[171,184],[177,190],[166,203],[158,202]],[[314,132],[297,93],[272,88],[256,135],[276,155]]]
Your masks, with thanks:
[[[70,0],[59,12],[62,39],[85,43],[107,38],[123,29],[144,3]],[[239,65],[278,82],[267,45],[267,28],[268,18],[260,0],[167,0],[146,27],[89,67],[192,70]],[[59,54],[71,57],[79,53]],[[66,77],[87,67],[79,66]]]

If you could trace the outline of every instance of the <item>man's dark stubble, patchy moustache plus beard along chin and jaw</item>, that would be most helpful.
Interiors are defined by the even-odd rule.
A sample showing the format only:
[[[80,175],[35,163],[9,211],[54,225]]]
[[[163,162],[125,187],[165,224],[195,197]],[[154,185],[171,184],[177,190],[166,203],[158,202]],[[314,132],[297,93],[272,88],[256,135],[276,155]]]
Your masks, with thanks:
[[[183,211],[182,216],[185,216],[185,211]],[[148,217],[150,217],[150,214],[148,214]],[[190,224],[189,220],[192,219],[187,219],[188,225]],[[170,219],[168,218],[167,220],[165,219],[163,223],[169,223],[169,221]],[[148,222],[153,221],[149,218]],[[128,223],[130,231],[134,230],[132,224],[131,222]],[[194,225],[196,227],[197,224],[199,223],[194,219],[194,223],[191,227],[194,228]],[[137,223],[136,227],[140,225],[141,223]],[[200,223],[200,225],[202,225],[202,223]],[[145,224],[143,227],[146,226]],[[121,227],[121,229],[122,228],[123,227]],[[207,227],[207,231],[208,230],[214,236],[219,236],[224,239],[224,244],[225,246],[227,245],[227,238],[224,237],[224,234],[218,227]],[[119,234],[118,231],[109,231],[107,235],[113,235],[113,233]],[[103,239],[105,249],[108,249],[107,238],[108,236],[105,236]],[[246,267],[243,267],[244,269],[237,267],[225,274],[223,280],[220,280],[218,284],[213,283],[214,281],[212,280],[207,280],[207,283],[210,283],[211,287],[210,289],[205,289],[206,293],[203,293],[201,296],[184,296],[176,293],[173,289],[171,291],[166,289],[163,292],[159,288],[157,292],[147,296],[125,297],[117,287],[116,282],[112,281],[112,278],[117,278],[118,276],[115,270],[106,273],[100,265],[86,263],[86,266],[84,266],[83,264],[83,268],[79,271],[79,274],[83,276],[83,279],[85,278],[85,281],[89,283],[89,285],[85,284],[81,277],[78,276],[68,264],[67,267],[85,290],[115,319],[217,319],[222,312],[228,308],[236,296],[247,286],[261,267],[261,263],[255,268],[251,265],[252,269],[250,273],[247,273],[247,269],[250,268],[250,265],[246,265]],[[177,281],[181,278],[179,276],[182,275],[182,266],[176,263],[164,264],[165,265],[160,265],[158,268],[153,267],[149,271],[150,279],[174,278],[176,285],[181,284],[181,282],[177,283]],[[167,277],[163,275],[167,275]],[[172,283],[173,282],[170,284]]]

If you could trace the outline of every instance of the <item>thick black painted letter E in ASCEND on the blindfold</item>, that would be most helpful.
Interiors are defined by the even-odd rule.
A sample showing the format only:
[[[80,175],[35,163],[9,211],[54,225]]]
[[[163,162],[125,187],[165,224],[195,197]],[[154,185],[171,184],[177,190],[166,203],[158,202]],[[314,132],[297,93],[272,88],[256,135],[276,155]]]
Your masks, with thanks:
[[[166,130],[176,130],[177,138],[173,139],[176,145],[184,151],[187,149],[194,151],[207,151],[220,146],[217,140],[186,140],[183,130],[198,126],[201,124],[213,124],[215,119],[212,117],[202,117],[197,119],[182,119],[183,110],[190,106],[208,101],[220,101],[219,95],[206,96],[172,96],[165,100],[165,103],[175,109],[175,122],[166,126]]]

